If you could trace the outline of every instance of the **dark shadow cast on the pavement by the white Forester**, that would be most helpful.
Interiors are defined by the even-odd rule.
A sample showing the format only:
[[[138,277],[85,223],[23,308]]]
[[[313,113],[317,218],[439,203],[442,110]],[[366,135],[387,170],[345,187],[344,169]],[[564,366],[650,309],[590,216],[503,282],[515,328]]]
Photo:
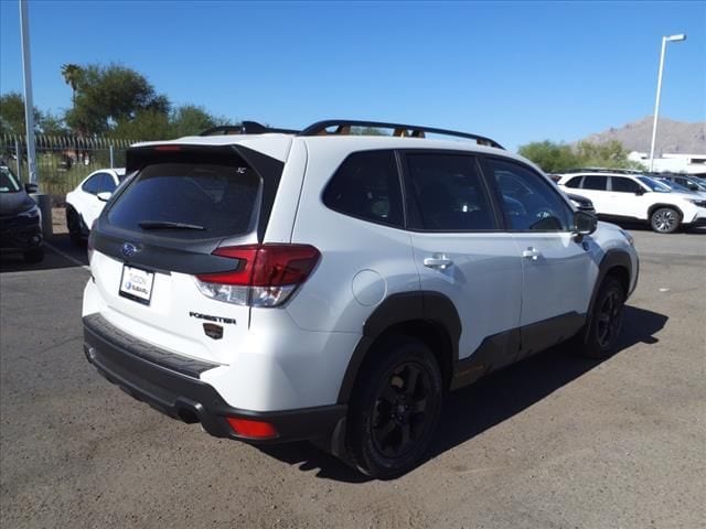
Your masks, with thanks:
[[[667,320],[667,316],[656,312],[625,306],[616,354],[639,343],[656,344],[659,339],[654,334],[664,327]],[[429,457],[451,450],[522,412],[590,371],[601,361],[603,360],[579,358],[567,346],[559,345],[449,393]],[[282,462],[299,465],[302,472],[318,469],[315,475],[320,478],[346,483],[370,481],[308,443],[274,445],[260,450]]]

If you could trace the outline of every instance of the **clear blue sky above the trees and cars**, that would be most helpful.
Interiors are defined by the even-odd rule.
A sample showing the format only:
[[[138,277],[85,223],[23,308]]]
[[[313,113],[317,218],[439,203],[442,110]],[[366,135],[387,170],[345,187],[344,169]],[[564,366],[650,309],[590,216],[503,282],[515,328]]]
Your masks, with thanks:
[[[0,91],[21,90],[19,7],[0,1]],[[64,63],[117,62],[174,104],[303,127],[365,118],[456,128],[515,149],[651,115],[706,119],[706,2],[30,1],[34,102]]]

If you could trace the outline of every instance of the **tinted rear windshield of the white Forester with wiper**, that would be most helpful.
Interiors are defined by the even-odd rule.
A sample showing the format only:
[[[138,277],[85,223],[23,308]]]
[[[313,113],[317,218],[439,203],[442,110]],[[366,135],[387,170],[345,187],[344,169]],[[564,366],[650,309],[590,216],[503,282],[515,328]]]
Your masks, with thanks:
[[[119,196],[108,222],[140,230],[139,223],[183,223],[203,230],[161,229],[169,237],[220,237],[255,229],[259,176],[247,166],[159,163],[145,168]]]

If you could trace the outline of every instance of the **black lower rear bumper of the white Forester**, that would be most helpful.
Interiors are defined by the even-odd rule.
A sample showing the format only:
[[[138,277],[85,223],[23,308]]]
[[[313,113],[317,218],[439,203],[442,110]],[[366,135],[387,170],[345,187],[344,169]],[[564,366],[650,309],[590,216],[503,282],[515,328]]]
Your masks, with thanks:
[[[345,406],[285,411],[250,411],[228,406],[199,375],[215,364],[188,360],[141,343],[111,326],[99,314],[84,317],[86,358],[108,381],[156,410],[184,422],[200,422],[216,438],[256,444],[325,439],[346,414]],[[266,421],[277,436],[257,440],[238,435],[226,418]]]

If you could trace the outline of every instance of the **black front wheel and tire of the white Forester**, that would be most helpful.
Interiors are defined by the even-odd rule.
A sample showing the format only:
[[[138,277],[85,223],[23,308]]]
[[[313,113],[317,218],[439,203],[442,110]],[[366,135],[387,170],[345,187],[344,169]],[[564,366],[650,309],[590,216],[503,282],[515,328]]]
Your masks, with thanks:
[[[580,332],[574,341],[581,356],[605,359],[613,354],[622,327],[624,304],[625,291],[622,283],[608,276],[598,291],[589,327]]]

